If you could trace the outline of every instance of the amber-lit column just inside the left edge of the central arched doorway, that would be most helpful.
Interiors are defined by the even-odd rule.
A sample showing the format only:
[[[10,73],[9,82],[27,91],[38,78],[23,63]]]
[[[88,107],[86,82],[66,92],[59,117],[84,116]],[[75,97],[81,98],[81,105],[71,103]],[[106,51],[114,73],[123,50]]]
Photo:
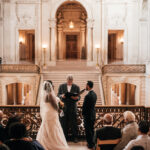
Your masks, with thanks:
[[[62,35],[63,28],[61,25],[58,25],[58,59],[63,59],[63,49],[62,49]]]

